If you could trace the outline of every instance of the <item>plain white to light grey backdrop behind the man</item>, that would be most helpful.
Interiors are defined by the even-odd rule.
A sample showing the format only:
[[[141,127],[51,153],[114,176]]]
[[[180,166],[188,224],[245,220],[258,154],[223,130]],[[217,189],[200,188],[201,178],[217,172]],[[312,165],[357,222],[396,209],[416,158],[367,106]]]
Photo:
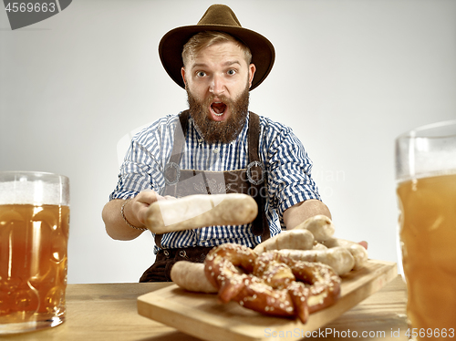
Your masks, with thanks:
[[[275,45],[251,109],[291,126],[337,237],[368,240],[393,261],[398,210],[394,139],[456,117],[456,1],[229,0],[244,27]],[[51,171],[71,181],[69,283],[137,282],[152,238],[106,234],[101,210],[117,183],[117,143],[186,109],[158,44],[212,2],[73,1],[12,31],[0,13],[0,171]]]

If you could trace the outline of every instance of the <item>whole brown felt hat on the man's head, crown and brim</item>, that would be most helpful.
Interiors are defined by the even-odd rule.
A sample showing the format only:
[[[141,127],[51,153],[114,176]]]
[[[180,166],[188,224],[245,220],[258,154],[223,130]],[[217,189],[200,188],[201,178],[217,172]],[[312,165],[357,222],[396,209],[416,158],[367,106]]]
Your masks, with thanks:
[[[227,5],[212,5],[202,15],[197,25],[172,29],[161,38],[159,55],[168,75],[185,88],[181,77],[182,49],[189,39],[202,31],[220,31],[241,40],[252,52],[252,63],[256,67],[252,87],[258,87],[273,68],[275,49],[264,36],[241,26],[236,15]]]

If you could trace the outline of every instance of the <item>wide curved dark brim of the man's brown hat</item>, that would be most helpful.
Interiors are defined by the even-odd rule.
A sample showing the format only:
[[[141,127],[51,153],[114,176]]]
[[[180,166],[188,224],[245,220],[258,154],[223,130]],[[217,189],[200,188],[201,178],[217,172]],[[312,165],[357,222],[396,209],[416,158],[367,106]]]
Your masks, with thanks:
[[[172,29],[161,38],[159,55],[161,64],[170,77],[181,87],[185,84],[181,77],[182,48],[195,34],[203,31],[221,31],[235,36],[250,48],[252,63],[256,67],[252,87],[258,87],[267,77],[275,62],[275,49],[264,36],[244,27],[225,25],[192,25]]]

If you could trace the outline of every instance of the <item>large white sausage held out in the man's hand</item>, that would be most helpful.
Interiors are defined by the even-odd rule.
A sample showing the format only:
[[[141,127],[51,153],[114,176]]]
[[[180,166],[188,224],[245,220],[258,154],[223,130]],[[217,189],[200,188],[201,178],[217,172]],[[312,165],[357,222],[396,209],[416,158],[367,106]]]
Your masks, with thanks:
[[[213,225],[244,225],[253,222],[256,214],[258,206],[246,194],[195,194],[153,202],[145,225],[152,233],[161,234]]]

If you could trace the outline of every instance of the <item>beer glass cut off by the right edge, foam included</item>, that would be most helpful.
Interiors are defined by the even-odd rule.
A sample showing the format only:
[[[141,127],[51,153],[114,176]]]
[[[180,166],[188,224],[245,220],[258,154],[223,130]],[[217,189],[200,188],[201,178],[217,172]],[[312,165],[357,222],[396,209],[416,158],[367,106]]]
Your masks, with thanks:
[[[407,336],[456,336],[456,120],[396,140],[399,244]]]

